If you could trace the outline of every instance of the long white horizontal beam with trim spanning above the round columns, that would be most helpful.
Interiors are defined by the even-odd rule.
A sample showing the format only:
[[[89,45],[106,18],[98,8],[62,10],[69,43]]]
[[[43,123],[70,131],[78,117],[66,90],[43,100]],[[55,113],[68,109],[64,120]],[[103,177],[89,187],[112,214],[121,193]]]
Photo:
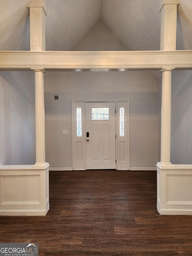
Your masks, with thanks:
[[[0,70],[192,69],[192,51],[0,51]]]

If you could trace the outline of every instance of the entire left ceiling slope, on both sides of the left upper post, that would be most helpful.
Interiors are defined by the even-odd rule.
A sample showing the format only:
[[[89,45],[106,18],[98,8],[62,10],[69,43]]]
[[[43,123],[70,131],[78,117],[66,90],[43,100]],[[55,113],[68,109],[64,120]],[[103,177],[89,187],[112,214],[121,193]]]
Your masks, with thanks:
[[[30,2],[0,0],[0,50],[30,50]],[[46,50],[71,50],[100,18],[101,0],[47,0]]]

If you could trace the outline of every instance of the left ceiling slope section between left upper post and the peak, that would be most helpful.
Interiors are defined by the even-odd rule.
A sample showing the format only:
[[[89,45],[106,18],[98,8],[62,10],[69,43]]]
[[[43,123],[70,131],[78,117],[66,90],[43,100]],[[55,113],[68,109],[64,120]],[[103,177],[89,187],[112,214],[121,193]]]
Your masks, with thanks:
[[[47,0],[47,8],[47,51],[71,50],[101,18],[101,0]]]

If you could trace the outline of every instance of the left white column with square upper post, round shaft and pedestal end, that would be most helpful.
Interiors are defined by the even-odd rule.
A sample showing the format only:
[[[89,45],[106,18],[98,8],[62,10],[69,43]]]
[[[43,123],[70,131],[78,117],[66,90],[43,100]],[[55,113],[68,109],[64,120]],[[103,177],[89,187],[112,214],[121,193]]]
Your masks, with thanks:
[[[31,51],[45,51],[45,15],[46,0],[33,0],[30,10],[30,46]],[[41,67],[32,69],[35,73],[35,134],[36,163],[32,169],[40,174],[40,211],[37,215],[46,215],[49,210],[49,163],[45,162],[45,111],[44,111],[44,72]]]

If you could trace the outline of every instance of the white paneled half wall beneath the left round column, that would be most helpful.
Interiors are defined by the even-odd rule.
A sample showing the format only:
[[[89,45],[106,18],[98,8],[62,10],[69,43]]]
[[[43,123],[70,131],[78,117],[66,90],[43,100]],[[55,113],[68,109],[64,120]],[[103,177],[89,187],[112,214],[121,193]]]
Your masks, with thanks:
[[[0,215],[46,215],[49,167],[38,170],[32,165],[1,165],[0,182]]]

